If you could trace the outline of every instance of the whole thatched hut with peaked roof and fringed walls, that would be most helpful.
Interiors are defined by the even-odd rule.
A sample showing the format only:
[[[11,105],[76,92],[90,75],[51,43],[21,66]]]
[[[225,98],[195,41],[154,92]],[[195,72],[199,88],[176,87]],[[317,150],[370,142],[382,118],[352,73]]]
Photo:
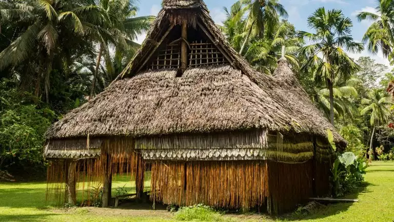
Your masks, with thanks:
[[[203,1],[164,0],[122,75],[47,131],[47,195],[75,204],[76,184],[102,185],[106,207],[112,175],[141,196],[150,166],[151,200],[282,213],[329,192],[327,129],[344,148],[286,59],[259,73]]]

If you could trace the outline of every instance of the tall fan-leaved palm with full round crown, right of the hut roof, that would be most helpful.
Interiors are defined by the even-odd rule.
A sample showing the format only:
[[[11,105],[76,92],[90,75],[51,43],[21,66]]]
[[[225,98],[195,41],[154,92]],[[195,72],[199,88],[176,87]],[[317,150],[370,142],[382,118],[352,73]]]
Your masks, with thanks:
[[[355,53],[364,49],[362,43],[353,41],[350,35],[353,26],[349,17],[341,10],[326,11],[317,9],[308,17],[308,25],[316,33],[300,32],[300,37],[308,39],[311,45],[302,47],[300,53],[306,62],[301,67],[303,72],[313,72],[316,83],[325,82],[329,90],[330,122],[334,124],[334,79],[347,80],[359,70],[359,66],[345,53]],[[322,55],[323,58],[320,57]]]

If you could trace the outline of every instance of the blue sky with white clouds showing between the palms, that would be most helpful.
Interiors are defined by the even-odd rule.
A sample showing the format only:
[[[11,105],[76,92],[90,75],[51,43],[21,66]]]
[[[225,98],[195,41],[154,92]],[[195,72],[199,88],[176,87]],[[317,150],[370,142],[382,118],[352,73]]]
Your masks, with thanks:
[[[156,15],[161,9],[161,0],[140,0],[140,11],[139,15]],[[204,1],[213,20],[216,23],[221,23],[226,15],[223,11],[223,7],[230,7],[235,0],[205,0]],[[352,35],[354,40],[361,42],[364,32],[370,25],[370,22],[363,21],[358,22],[356,14],[360,11],[375,12],[375,1],[374,0],[280,0],[280,3],[287,10],[289,22],[294,24],[297,30],[312,31],[308,28],[306,19],[311,15],[317,8],[325,7],[326,9],[341,9],[343,13],[350,17],[353,22]],[[138,41],[141,43],[145,38],[144,35],[140,36]],[[389,65],[388,60],[383,58],[381,53],[372,55],[365,50],[359,54],[350,54],[353,58],[359,58],[360,56],[370,56],[376,60],[376,62]]]

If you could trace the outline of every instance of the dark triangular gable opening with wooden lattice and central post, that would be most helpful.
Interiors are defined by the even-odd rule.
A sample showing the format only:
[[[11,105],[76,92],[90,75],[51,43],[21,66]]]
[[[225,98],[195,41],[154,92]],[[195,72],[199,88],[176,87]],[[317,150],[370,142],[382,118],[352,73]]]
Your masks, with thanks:
[[[184,34],[183,34],[184,33]],[[160,46],[151,54],[140,71],[154,69],[181,69],[230,64],[224,52],[212,42],[207,30],[199,24],[187,27],[175,25],[163,36]],[[184,45],[184,46],[182,46]],[[186,51],[183,52],[182,48]],[[186,59],[182,58],[182,53]],[[183,60],[186,64],[182,66]]]

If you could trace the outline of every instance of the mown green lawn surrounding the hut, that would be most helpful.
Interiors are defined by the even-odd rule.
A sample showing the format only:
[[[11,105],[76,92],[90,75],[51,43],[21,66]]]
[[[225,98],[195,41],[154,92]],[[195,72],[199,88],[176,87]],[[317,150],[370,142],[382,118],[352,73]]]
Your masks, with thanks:
[[[394,163],[374,162],[365,175],[366,186],[359,192],[345,196],[358,198],[359,203],[342,203],[324,206],[312,215],[294,215],[271,218],[267,215],[225,215],[224,221],[393,221],[394,220]],[[127,184],[128,190],[134,185],[127,177],[115,178],[115,188]],[[146,183],[147,187],[149,183]],[[175,217],[162,211],[144,210],[143,214],[130,216],[127,209],[77,208],[60,209],[45,202],[44,182],[0,183],[0,221],[175,221]],[[149,189],[149,187],[148,187]],[[135,212],[135,210],[133,211]],[[213,218],[217,220],[218,215]],[[207,217],[209,218],[209,216]]]

